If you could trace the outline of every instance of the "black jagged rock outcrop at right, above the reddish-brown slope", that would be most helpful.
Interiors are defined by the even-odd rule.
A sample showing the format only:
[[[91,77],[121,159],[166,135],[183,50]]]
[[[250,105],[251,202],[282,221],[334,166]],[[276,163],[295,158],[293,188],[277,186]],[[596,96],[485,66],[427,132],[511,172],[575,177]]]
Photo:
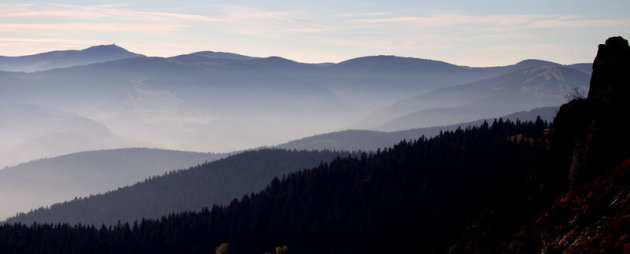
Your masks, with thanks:
[[[568,168],[577,187],[630,157],[630,47],[621,37],[599,45],[588,97],[563,105],[556,116],[550,150]],[[564,165],[562,165],[564,164]]]

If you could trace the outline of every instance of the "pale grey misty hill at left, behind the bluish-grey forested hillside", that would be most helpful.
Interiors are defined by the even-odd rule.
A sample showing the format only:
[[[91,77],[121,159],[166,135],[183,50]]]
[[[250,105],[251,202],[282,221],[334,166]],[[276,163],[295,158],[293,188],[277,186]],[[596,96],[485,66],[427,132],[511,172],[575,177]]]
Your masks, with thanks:
[[[73,153],[0,170],[0,218],[111,191],[151,176],[214,161],[224,154],[147,148]]]

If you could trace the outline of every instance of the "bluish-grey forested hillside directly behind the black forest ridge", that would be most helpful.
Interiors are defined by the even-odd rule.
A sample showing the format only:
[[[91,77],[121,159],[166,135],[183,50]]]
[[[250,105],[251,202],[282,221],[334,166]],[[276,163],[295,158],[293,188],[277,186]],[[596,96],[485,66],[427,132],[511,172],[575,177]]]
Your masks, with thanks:
[[[274,177],[315,167],[345,152],[246,151],[187,170],[172,171],[105,194],[78,198],[9,218],[7,222],[113,225],[200,211],[259,191]]]

